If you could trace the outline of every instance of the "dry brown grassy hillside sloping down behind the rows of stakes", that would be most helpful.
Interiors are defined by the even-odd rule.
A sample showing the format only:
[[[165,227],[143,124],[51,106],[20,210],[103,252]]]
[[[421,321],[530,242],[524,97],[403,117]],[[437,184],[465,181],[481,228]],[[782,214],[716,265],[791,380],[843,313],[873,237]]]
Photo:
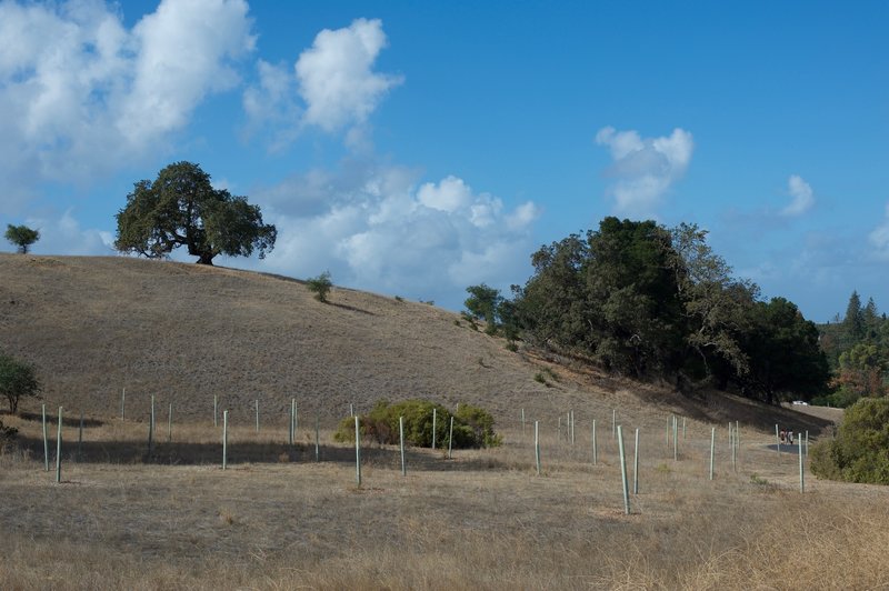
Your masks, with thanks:
[[[334,288],[330,303],[279,276],[124,257],[0,254],[0,350],[33,363],[50,408],[143,418],[149,397],[178,418],[211,417],[213,395],[242,421],[286,421],[290,399],[330,424],[349,405],[428,398],[490,410],[499,423],[556,422],[569,409],[662,428],[667,413],[767,429],[827,421],[727,394],[705,403],[588,367],[557,365],[426,303]],[[549,370],[549,372],[547,371]],[[543,371],[547,383],[536,380]],[[22,409],[39,408],[23,400]],[[273,420],[273,419],[269,419]]]

